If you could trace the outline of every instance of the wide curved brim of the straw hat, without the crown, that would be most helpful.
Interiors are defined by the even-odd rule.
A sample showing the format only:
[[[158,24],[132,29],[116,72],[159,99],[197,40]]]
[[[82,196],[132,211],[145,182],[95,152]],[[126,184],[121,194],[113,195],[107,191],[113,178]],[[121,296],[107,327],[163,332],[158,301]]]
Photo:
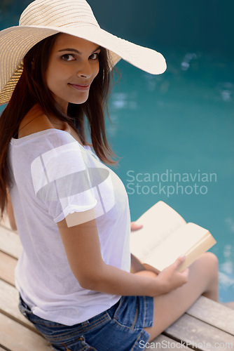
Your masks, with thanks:
[[[130,41],[118,38],[93,25],[79,27],[17,26],[0,32],[0,105],[11,99],[15,85],[22,74],[22,60],[36,43],[57,33],[80,37],[109,51],[109,66],[123,60],[151,74],[161,74],[166,69],[163,55]]]

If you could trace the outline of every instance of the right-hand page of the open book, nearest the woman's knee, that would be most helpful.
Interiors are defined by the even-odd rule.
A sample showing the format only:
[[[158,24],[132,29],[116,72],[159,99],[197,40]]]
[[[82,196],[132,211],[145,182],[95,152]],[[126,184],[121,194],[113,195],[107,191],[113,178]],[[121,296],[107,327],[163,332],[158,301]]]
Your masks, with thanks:
[[[156,249],[151,250],[145,263],[163,270],[171,265],[179,256],[186,255],[192,246],[197,246],[207,236],[208,230],[194,223],[180,227],[170,237],[167,237]]]

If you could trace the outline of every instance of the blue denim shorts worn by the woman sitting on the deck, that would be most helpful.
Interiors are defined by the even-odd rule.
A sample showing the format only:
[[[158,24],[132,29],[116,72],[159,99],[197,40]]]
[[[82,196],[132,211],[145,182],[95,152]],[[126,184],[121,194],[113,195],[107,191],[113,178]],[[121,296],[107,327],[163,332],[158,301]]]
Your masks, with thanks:
[[[21,296],[19,308],[53,350],[60,351],[142,350],[140,345],[149,340],[144,328],[153,326],[153,298],[149,296],[122,296],[109,310],[73,326],[37,317]]]

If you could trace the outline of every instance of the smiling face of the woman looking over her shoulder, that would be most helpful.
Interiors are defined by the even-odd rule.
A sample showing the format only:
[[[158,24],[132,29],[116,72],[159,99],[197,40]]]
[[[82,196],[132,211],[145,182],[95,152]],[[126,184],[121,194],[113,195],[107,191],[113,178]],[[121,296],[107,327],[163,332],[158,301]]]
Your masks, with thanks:
[[[97,44],[61,33],[52,48],[46,83],[55,101],[67,113],[68,103],[82,104],[88,99],[90,84],[99,72]]]

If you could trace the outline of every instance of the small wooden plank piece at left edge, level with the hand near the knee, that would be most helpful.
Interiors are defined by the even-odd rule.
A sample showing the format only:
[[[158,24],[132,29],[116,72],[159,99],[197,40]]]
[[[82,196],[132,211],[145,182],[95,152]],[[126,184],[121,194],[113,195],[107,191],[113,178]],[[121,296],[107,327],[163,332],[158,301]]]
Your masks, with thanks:
[[[14,285],[14,271],[17,260],[0,251],[0,279]]]

